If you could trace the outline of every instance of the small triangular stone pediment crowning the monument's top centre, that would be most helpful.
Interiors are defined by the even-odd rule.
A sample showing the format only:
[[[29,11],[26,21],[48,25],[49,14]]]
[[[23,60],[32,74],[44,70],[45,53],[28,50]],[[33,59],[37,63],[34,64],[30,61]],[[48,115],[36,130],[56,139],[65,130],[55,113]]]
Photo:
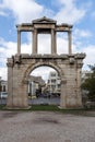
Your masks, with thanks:
[[[44,16],[44,17],[41,17],[41,19],[37,19],[37,20],[34,20],[34,21],[33,21],[33,24],[37,24],[37,23],[38,23],[38,24],[40,24],[40,23],[45,23],[45,24],[47,24],[47,23],[54,23],[54,24],[56,24],[56,21]]]

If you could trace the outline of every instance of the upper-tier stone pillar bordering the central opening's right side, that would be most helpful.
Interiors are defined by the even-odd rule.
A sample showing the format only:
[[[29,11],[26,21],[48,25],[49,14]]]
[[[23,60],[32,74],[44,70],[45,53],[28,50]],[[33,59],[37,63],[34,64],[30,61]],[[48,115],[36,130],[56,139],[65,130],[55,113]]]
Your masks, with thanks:
[[[57,54],[57,47],[56,47],[56,32],[54,28],[51,28],[51,54]]]

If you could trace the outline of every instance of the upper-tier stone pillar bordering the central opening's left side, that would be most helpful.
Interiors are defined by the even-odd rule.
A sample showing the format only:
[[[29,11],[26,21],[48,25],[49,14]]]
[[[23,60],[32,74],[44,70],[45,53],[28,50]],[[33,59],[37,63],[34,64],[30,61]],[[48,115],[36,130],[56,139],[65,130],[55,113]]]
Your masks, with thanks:
[[[33,32],[33,54],[37,54],[37,29]]]

